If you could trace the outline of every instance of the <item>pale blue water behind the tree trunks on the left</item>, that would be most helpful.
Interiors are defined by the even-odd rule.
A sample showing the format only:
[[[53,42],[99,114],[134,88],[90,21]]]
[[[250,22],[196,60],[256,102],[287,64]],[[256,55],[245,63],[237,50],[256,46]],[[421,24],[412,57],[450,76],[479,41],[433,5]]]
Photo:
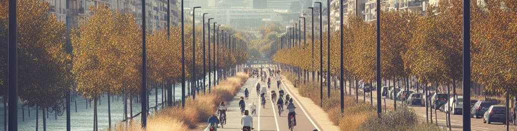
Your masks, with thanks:
[[[208,84],[208,76],[206,78],[206,84]],[[214,77],[212,76],[212,83],[214,82]],[[187,84],[188,87],[188,84]],[[188,88],[186,87],[185,92],[188,93]],[[208,90],[208,86],[206,86]],[[175,90],[174,90],[175,100],[181,100],[181,83],[175,84]],[[202,91],[200,90],[200,93]],[[154,107],[156,105],[155,102],[155,96],[158,96],[158,103],[161,103],[161,89],[158,88],[158,94],[155,94],[155,89],[153,88],[150,93],[148,94],[149,97],[149,103],[148,107]],[[72,99],[70,103],[70,121],[71,121],[71,130],[93,130],[94,126],[94,102],[92,101],[92,106],[90,107],[89,101],[85,100],[82,96],[78,96],[75,99],[77,99],[77,113],[75,112],[75,103]],[[140,99],[137,96],[133,98],[133,115],[138,114],[141,111],[141,103],[136,103],[136,100]],[[113,96],[113,100],[111,101],[111,125],[112,128],[116,127],[116,124],[118,124],[120,121],[124,119],[124,101],[122,97]],[[86,107],[87,106],[87,107]],[[130,110],[129,110],[129,100],[128,100],[128,117],[130,116]],[[25,119],[22,121],[22,109],[21,105],[18,106],[18,130],[36,130],[36,108],[33,106],[31,107],[30,114],[31,117],[28,117],[29,110],[27,109],[27,106],[24,106],[24,115]],[[5,130],[4,125],[4,104],[0,104],[0,110],[2,111],[0,113],[0,130]],[[158,108],[160,109],[160,108]],[[149,114],[153,114],[155,109],[149,109]],[[59,115],[59,114],[58,114]],[[108,97],[107,95],[104,95],[100,99],[100,103],[97,105],[97,115],[98,115],[98,126],[99,129],[107,129],[109,127],[108,122]],[[63,113],[62,116],[57,116],[57,119],[55,117],[55,113],[48,113],[48,119],[47,119],[47,129],[48,130],[66,130],[66,113]],[[46,116],[45,116],[46,117]],[[134,120],[140,120],[141,117],[137,116],[134,118]],[[42,119],[42,111],[39,109],[39,129],[43,129],[43,119]]]

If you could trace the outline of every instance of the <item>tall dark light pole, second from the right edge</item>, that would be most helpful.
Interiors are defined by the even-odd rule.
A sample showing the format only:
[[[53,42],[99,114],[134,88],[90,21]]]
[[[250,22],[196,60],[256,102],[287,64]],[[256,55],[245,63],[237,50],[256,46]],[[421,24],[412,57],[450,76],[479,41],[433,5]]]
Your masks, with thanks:
[[[377,88],[381,87],[381,0],[377,0],[377,7],[376,7],[376,13],[377,13],[377,69],[376,69],[376,81],[377,81]],[[382,113],[382,107],[381,105],[381,90],[377,89],[377,117],[381,117]],[[395,103],[397,104],[397,103]],[[470,117],[469,117],[470,119]]]

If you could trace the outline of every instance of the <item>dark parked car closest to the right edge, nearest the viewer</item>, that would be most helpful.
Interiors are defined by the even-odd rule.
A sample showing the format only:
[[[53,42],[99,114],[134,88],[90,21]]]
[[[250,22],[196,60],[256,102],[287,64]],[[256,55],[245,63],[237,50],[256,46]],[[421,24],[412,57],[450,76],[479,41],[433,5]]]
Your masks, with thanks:
[[[483,123],[500,122],[506,123],[506,107],[504,105],[491,105],[483,115]]]

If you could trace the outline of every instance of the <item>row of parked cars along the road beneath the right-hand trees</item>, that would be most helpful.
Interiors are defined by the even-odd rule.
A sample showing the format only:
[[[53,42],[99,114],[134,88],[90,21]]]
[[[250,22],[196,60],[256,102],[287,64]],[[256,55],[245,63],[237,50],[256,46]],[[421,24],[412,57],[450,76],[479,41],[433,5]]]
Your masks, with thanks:
[[[431,108],[450,112],[453,115],[463,115],[463,96],[449,96],[447,93],[431,93],[425,96],[423,93],[405,90],[403,88],[382,87],[382,96],[388,99],[397,99],[409,106],[425,106],[425,99],[430,101]],[[450,103],[450,104],[449,104]],[[499,105],[497,101],[471,100],[470,116],[483,118],[483,123],[506,123],[506,106]],[[449,108],[450,106],[450,108]],[[450,109],[450,110],[449,110]]]

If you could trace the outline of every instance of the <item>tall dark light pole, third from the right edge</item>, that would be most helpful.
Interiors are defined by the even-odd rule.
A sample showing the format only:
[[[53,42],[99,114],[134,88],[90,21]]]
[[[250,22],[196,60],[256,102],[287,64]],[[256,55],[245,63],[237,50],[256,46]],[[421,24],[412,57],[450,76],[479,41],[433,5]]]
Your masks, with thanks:
[[[344,69],[343,69],[343,0],[339,0],[339,32],[340,32],[340,59],[339,59],[339,93],[340,93],[340,99],[341,99],[341,114],[343,115],[345,113],[345,97],[343,94],[344,87]],[[377,86],[378,87],[378,86]],[[380,106],[377,103],[377,106]]]

